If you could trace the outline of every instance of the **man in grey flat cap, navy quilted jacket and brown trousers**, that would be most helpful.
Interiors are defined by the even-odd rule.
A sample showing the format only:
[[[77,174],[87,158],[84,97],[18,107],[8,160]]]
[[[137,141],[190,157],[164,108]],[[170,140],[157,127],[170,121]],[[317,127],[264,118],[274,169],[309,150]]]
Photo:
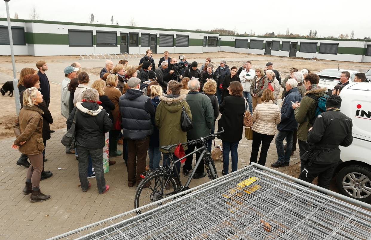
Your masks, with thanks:
[[[145,160],[153,133],[155,108],[151,99],[140,90],[141,80],[132,77],[128,80],[129,89],[119,99],[120,114],[122,116],[123,136],[128,139],[128,186],[133,187],[135,182],[140,183],[140,175],[145,171]],[[137,161],[135,162],[135,159]],[[136,169],[135,169],[136,168]],[[151,183],[147,183],[149,186]]]

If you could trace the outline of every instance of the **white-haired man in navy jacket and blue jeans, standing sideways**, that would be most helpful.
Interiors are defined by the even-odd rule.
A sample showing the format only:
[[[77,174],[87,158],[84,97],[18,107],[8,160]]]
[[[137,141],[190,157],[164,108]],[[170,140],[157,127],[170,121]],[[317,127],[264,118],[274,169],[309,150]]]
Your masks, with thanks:
[[[296,126],[298,126],[291,105],[292,102],[300,102],[302,99],[302,96],[298,92],[297,86],[298,83],[295,79],[289,79],[286,81],[286,95],[281,105],[281,122],[277,125],[278,134],[275,141],[278,160],[272,164],[272,167],[274,168],[290,165],[292,136]],[[285,138],[286,151],[283,149],[283,139]]]

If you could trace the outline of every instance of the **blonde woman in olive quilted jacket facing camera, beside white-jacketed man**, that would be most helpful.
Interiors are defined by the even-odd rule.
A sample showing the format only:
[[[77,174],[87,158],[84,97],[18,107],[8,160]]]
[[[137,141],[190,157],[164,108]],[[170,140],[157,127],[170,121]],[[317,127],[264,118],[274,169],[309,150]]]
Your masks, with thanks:
[[[264,73],[263,68],[258,68],[255,70],[255,76],[251,81],[250,94],[253,99],[253,112],[256,105],[262,102],[262,94],[265,89],[268,88],[268,79]]]

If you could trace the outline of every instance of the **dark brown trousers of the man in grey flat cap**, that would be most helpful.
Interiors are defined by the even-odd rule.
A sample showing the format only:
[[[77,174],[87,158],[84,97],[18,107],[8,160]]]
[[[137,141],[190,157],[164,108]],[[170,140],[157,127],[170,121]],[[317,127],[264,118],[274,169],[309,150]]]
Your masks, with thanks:
[[[135,182],[140,183],[142,181],[140,175],[145,172],[145,160],[147,159],[149,145],[150,136],[142,140],[128,139],[127,170],[129,183],[135,184]],[[135,161],[135,158],[137,161]]]

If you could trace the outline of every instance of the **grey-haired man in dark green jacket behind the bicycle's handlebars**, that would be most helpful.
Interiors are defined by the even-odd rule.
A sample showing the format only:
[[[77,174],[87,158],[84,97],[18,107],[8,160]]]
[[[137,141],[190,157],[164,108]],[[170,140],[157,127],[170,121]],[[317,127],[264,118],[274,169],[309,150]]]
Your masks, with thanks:
[[[201,137],[206,137],[210,134],[210,129],[214,125],[214,110],[211,105],[210,98],[205,94],[199,92],[200,82],[197,79],[191,79],[188,82],[188,89],[190,92],[187,94],[187,103],[190,107],[192,116],[193,129],[187,132],[188,140],[195,140]],[[195,145],[188,145],[188,149],[185,154],[189,154],[194,151]],[[196,161],[200,157],[200,152],[196,152]],[[188,175],[192,170],[193,154],[187,157],[183,166],[184,175]],[[202,178],[206,176],[204,172],[204,162],[201,161],[196,169],[196,174],[193,176],[194,179]]]

